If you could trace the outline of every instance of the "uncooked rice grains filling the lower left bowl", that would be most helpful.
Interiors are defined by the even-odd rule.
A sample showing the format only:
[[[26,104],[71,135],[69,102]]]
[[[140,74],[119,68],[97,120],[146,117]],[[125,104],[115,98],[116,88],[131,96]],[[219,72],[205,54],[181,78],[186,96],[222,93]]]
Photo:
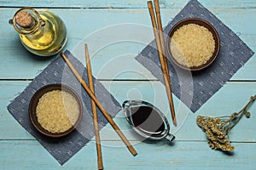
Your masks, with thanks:
[[[79,104],[72,94],[52,90],[38,101],[38,122],[51,133],[62,133],[73,127],[79,117]]]

